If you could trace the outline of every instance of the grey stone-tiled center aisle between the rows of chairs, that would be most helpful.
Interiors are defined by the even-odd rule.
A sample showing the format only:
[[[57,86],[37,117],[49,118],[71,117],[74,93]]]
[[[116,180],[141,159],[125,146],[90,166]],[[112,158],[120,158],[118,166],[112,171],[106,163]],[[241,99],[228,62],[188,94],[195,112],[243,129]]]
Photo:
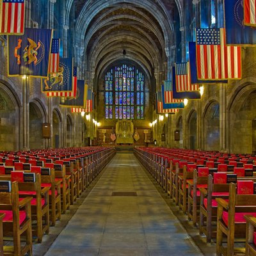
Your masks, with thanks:
[[[198,256],[202,253],[136,157],[116,154],[45,255]]]

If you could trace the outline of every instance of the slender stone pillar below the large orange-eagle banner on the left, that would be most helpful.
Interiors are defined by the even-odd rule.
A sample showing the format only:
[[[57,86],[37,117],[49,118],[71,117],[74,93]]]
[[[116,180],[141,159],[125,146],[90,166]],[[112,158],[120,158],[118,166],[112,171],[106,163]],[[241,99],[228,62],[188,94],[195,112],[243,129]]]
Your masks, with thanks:
[[[22,77],[22,150],[29,149],[29,77]]]

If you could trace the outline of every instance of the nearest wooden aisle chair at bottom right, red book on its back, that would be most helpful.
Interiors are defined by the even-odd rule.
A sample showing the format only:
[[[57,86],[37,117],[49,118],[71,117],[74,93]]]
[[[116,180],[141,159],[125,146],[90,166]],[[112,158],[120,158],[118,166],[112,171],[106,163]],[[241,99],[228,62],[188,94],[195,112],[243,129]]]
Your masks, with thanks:
[[[246,182],[243,188],[242,182]],[[243,216],[256,216],[253,180],[237,180],[237,185],[230,183],[228,202],[222,198],[216,200],[218,202],[216,255],[233,256],[236,253],[244,253],[245,248],[235,247],[235,239],[245,239],[246,220]],[[227,236],[227,243],[223,241],[224,235]]]

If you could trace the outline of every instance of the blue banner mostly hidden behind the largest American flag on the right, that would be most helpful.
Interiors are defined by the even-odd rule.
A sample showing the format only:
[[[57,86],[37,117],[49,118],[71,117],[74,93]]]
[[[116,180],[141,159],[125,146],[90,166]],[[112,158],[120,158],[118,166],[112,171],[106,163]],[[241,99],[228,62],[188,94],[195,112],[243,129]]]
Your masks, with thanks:
[[[216,83],[228,83],[227,80],[198,80],[197,68],[196,68],[196,42],[189,42],[189,64],[190,64],[190,76],[191,84],[216,84]],[[176,86],[175,86],[176,88]],[[180,98],[177,98],[180,99]],[[191,98],[192,99],[192,98]]]

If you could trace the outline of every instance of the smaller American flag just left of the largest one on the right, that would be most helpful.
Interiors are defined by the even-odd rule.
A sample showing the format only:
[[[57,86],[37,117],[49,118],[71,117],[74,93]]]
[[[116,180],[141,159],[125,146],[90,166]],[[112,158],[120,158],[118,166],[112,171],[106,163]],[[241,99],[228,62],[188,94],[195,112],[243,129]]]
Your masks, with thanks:
[[[191,84],[189,62],[175,63],[177,92],[193,92],[199,90],[198,84]]]

